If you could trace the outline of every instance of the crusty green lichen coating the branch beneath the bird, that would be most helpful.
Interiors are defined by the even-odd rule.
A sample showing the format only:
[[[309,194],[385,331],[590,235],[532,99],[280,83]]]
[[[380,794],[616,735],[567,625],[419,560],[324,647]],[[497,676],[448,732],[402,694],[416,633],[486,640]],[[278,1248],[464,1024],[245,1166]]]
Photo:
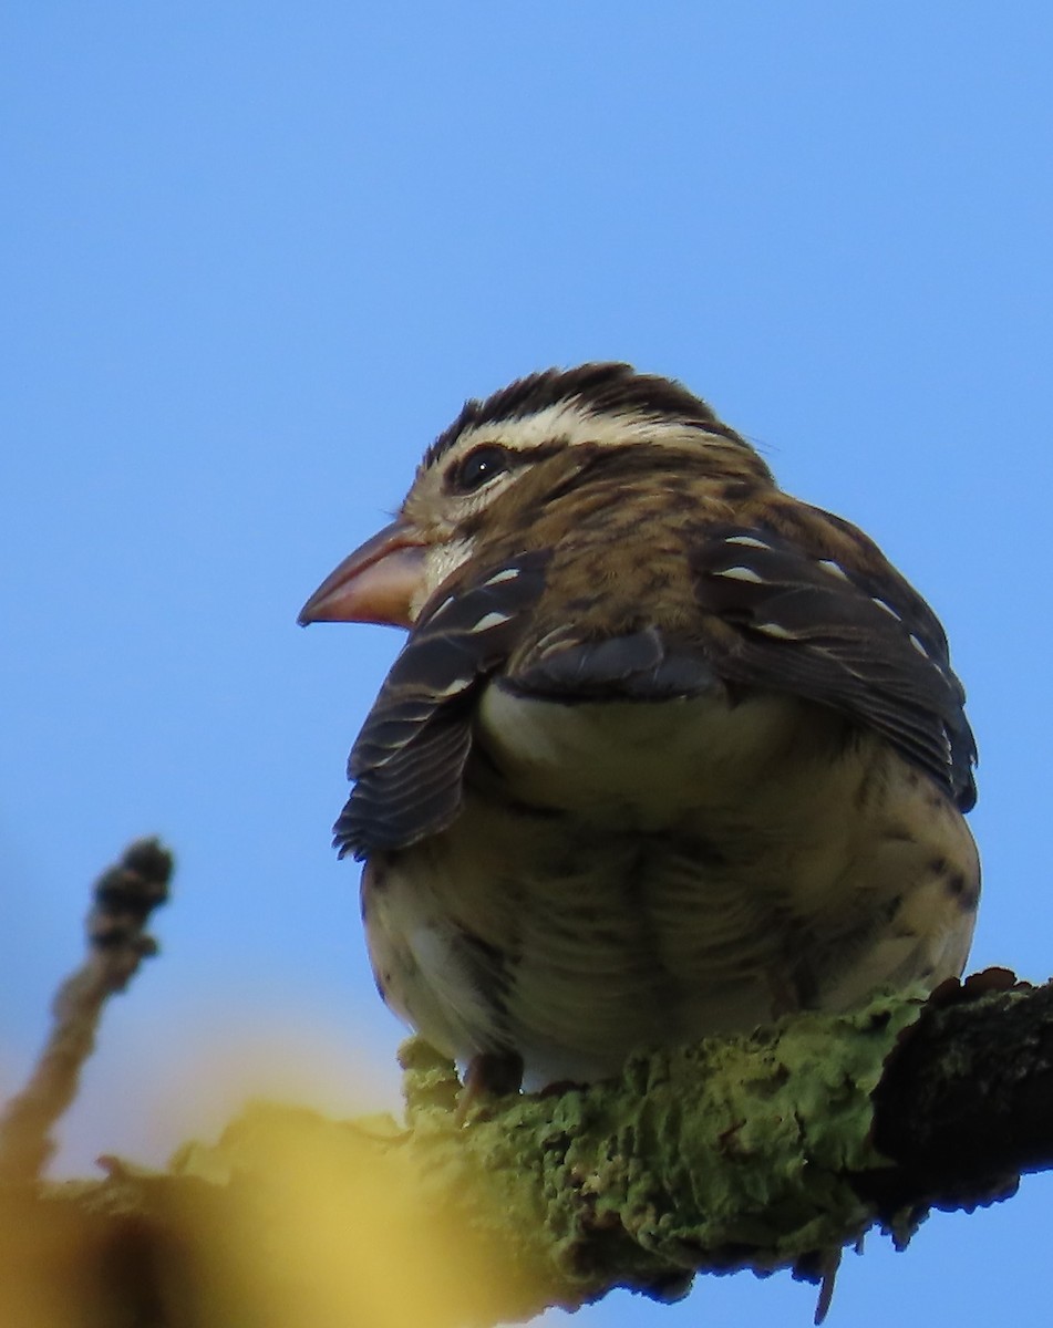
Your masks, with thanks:
[[[408,1147],[427,1186],[479,1197],[461,1219],[491,1227],[546,1303],[613,1283],[671,1297],[703,1268],[819,1278],[872,1222],[846,1173],[883,1165],[871,1092],[921,999],[657,1052],[618,1080],[493,1102],[464,1126],[453,1068],[413,1040]]]

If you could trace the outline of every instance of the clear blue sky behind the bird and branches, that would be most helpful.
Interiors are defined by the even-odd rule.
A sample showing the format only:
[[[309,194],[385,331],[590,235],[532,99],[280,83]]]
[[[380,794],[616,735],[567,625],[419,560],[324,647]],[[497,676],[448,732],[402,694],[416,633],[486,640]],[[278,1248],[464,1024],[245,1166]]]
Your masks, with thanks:
[[[179,858],[65,1170],[250,1093],[396,1101],[328,834],[399,637],[294,619],[461,400],[549,364],[682,377],[927,595],[981,749],[973,964],[1048,976],[1049,7],[15,0],[0,65],[0,1090],[96,872]],[[872,1239],[832,1321],[1033,1321],[1050,1199]]]

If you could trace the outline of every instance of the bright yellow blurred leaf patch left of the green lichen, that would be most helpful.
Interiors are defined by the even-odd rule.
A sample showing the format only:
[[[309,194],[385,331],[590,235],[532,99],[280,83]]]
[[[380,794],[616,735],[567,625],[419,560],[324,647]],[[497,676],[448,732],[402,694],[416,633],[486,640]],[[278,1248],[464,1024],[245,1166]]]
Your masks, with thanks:
[[[227,1159],[235,1166],[233,1239],[223,1242],[217,1284],[255,1300],[254,1324],[441,1328],[467,1323],[480,1300],[495,1316],[512,1303],[499,1262],[461,1238],[456,1214],[435,1211],[404,1135],[386,1118],[376,1125],[372,1133],[362,1121],[261,1108],[229,1133],[222,1153],[183,1154],[190,1174],[209,1177]]]

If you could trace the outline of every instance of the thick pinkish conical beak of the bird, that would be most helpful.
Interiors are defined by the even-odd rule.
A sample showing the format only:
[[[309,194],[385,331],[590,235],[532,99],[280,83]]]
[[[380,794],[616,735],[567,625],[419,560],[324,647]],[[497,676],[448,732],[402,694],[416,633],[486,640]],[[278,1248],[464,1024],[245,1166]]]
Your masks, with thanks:
[[[424,575],[424,542],[408,522],[394,521],[350,554],[299,612],[308,623],[390,623],[410,627],[410,606]]]

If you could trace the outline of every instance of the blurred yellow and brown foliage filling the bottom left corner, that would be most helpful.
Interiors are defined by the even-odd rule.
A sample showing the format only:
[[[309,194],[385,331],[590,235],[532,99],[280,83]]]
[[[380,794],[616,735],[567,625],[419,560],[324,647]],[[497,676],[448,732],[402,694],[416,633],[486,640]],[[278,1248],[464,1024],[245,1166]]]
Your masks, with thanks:
[[[8,1193],[0,1324],[496,1323],[523,1304],[505,1262],[459,1238],[456,1214],[435,1211],[404,1137],[390,1120],[376,1123],[372,1133],[261,1106],[215,1149],[183,1149],[174,1174],[117,1165],[105,1185]]]

